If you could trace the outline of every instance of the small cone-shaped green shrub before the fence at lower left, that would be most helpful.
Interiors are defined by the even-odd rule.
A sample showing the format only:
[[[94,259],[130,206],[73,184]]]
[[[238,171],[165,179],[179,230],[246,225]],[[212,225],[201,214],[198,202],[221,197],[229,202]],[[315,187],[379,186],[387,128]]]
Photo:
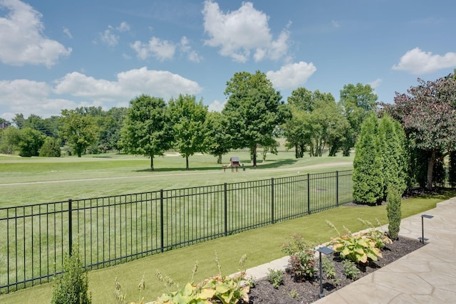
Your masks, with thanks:
[[[51,303],[89,304],[87,271],[83,268],[78,242],[73,244],[71,256],[63,260],[63,273],[56,280]]]

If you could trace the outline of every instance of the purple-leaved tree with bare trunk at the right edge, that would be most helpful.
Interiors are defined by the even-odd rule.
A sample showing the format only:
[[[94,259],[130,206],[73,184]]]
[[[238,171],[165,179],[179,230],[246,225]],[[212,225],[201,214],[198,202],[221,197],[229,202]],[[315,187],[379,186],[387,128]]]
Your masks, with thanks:
[[[418,79],[408,94],[396,93],[384,110],[400,121],[413,147],[429,152],[426,188],[432,189],[435,164],[456,150],[456,76],[435,81]]]

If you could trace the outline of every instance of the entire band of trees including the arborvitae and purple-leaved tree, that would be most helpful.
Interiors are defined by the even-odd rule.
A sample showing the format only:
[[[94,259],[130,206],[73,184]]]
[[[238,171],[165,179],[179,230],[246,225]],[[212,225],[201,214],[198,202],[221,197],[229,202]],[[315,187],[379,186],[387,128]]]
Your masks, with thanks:
[[[65,145],[81,157],[117,150],[150,157],[153,170],[154,158],[171,149],[186,159],[188,169],[189,157],[197,152],[212,154],[221,163],[230,150],[248,148],[257,166],[259,148],[276,153],[275,139],[284,137],[296,158],[305,153],[321,157],[323,151],[348,156],[355,147],[355,170],[371,179],[381,177],[363,186],[378,189],[375,199],[360,198],[372,202],[386,196],[391,180],[398,189],[417,182],[431,189],[445,176],[445,157],[455,167],[455,73],[418,83],[407,93],[396,93],[392,104],[377,103],[373,88],[361,83],[344,85],[337,103],[331,93],[306,88],[296,88],[285,103],[264,73],[239,72],[227,81],[222,112],[209,112],[194,95],[167,101],[140,95],[128,108],[81,107],[46,119],[17,114],[15,126],[0,132],[0,152],[58,157]],[[355,179],[361,181],[366,177],[357,177],[359,172]],[[455,175],[452,170],[449,174]]]

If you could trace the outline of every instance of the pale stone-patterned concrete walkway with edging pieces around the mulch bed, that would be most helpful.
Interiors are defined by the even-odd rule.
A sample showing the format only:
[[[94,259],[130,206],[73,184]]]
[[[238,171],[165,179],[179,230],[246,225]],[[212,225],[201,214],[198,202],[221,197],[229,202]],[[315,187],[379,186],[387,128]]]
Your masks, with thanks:
[[[316,301],[323,303],[456,303],[456,197],[424,214],[427,245]],[[400,236],[422,235],[421,214],[403,219]],[[288,257],[249,269],[263,278],[268,269],[284,269]]]

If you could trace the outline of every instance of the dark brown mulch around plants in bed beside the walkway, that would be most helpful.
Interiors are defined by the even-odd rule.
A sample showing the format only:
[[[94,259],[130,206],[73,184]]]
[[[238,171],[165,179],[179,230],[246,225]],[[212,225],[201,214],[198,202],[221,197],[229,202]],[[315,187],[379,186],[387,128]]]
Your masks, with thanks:
[[[376,262],[366,263],[362,267],[359,267],[361,274],[358,278],[373,273],[373,271],[381,268],[388,263],[391,263],[398,258],[405,256],[406,254],[415,251],[416,249],[423,246],[423,243],[420,243],[418,240],[400,238],[397,241],[394,241],[391,244],[387,244],[382,250],[383,258],[379,258]],[[328,295],[334,291],[343,288],[353,281],[346,278],[342,268],[341,258],[331,254],[328,256],[330,260],[333,261],[336,268],[336,278],[340,281],[337,283],[332,283],[328,281],[326,276],[323,273],[323,293]],[[284,273],[284,283],[279,286],[279,288],[274,289],[271,283],[267,279],[261,279],[257,281],[252,288],[250,295],[250,303],[284,303],[284,304],[294,304],[294,303],[312,303],[319,299],[318,293],[320,290],[320,281],[319,275],[316,273],[313,281],[306,282],[296,282],[291,276]]]

